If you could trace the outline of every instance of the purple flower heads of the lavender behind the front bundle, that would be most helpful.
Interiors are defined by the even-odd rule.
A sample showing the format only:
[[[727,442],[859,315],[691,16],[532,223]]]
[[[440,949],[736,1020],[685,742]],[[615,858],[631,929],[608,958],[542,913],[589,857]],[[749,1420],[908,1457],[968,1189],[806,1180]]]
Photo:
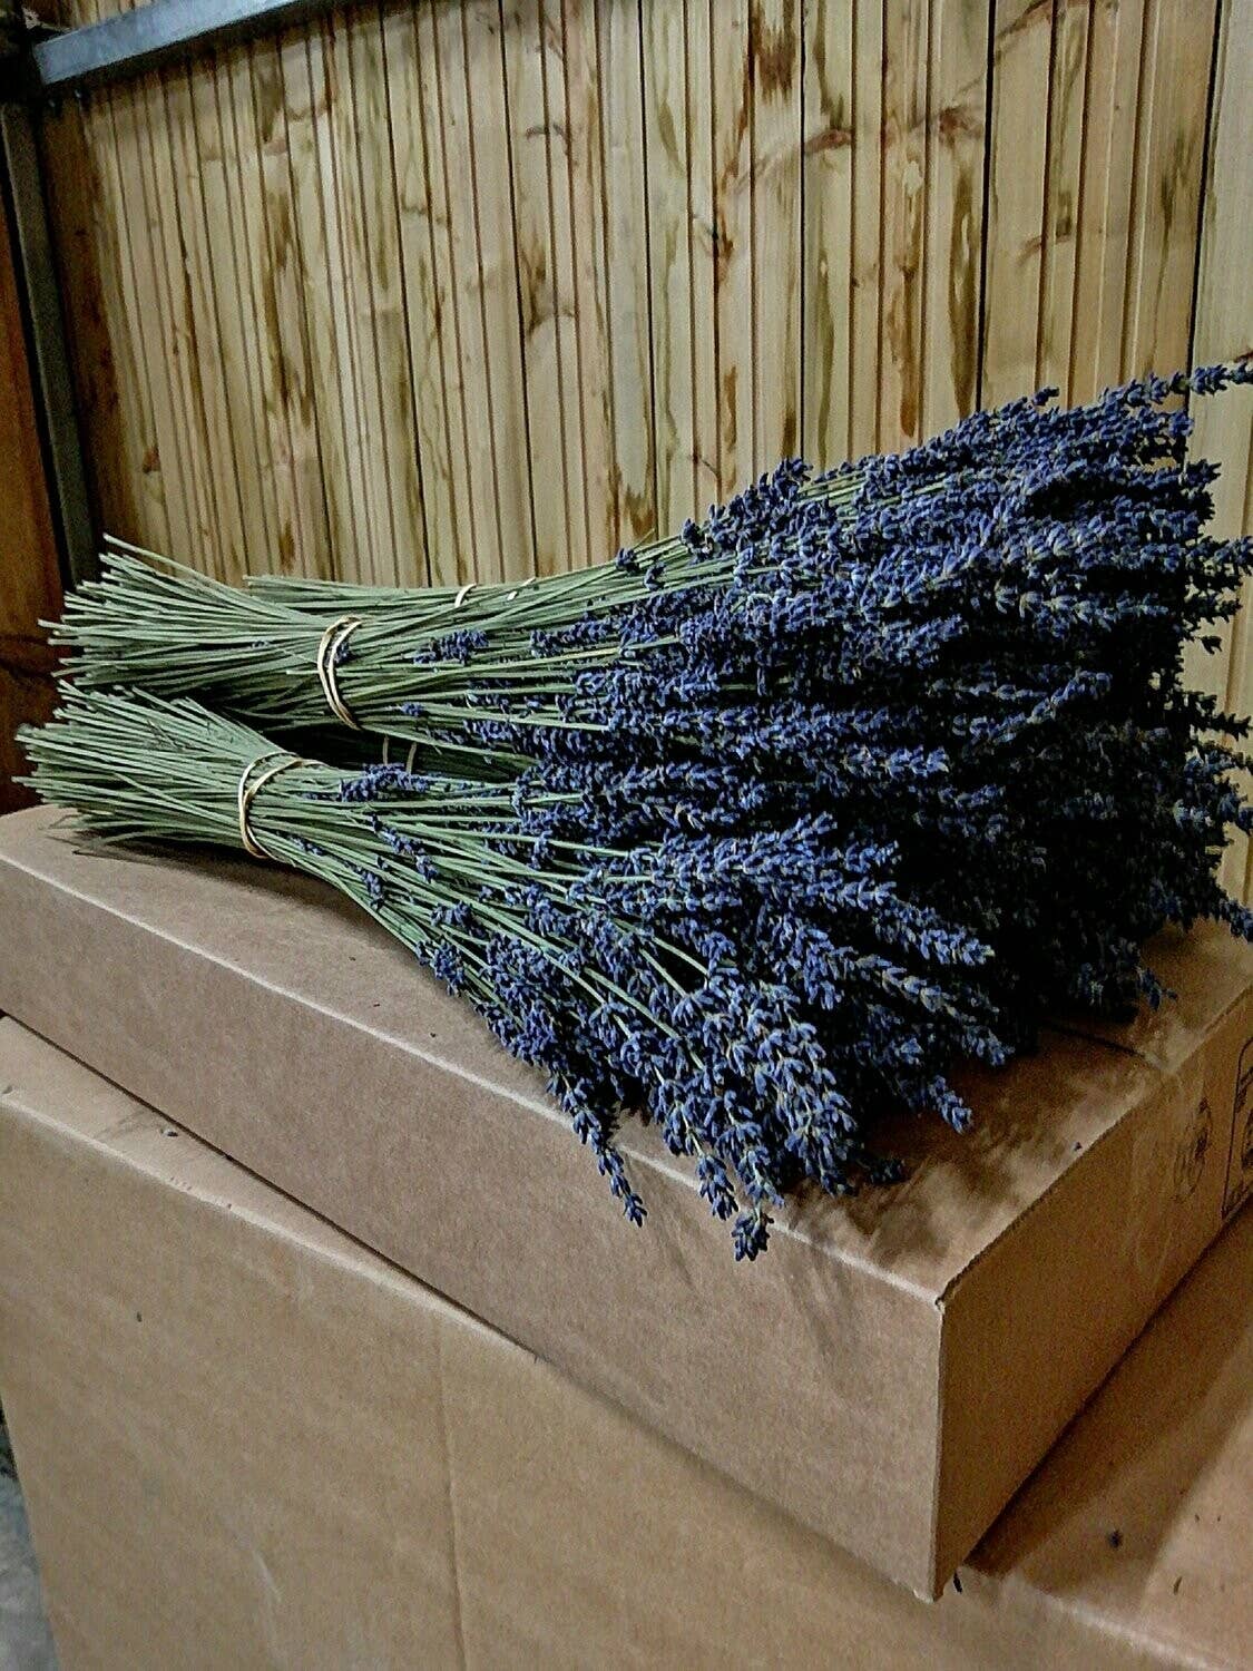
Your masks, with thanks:
[[[1186,463],[1188,416],[1161,404],[1248,378],[979,413],[857,466],[850,510],[782,466],[687,530],[728,583],[618,622],[647,655],[580,675],[560,727],[466,730],[536,759],[531,830],[763,842],[824,814],[890,844],[897,897],[991,947],[984,996],[1014,1044],[1053,1004],[1154,998],[1139,947],[1161,924],[1253,931],[1215,877],[1228,827],[1250,827],[1246,722],[1183,682],[1253,548],[1206,536],[1213,468]],[[565,799],[540,810],[545,789]]]

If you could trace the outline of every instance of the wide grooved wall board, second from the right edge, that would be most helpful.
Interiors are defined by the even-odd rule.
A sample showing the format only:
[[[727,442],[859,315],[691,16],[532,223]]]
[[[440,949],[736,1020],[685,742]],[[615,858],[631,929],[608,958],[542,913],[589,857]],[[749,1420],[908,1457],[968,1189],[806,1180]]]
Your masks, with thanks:
[[[997,3],[984,404],[1185,363],[1215,15]]]

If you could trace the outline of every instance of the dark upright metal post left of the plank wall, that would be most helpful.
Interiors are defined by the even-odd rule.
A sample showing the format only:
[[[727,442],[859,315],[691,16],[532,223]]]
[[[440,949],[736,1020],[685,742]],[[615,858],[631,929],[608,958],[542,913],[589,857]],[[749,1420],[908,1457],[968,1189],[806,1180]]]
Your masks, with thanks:
[[[77,583],[95,571],[97,543],[43,196],[37,115],[22,97],[30,82],[28,53],[22,7],[0,0],[0,214],[8,216],[13,234],[62,571],[67,582]]]

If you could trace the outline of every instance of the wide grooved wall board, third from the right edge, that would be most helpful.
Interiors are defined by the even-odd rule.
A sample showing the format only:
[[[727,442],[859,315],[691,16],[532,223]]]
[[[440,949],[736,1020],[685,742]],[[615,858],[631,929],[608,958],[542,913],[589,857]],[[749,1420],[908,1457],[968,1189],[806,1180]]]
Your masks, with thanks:
[[[984,0],[807,12],[802,363],[822,460],[974,408],[989,15]]]

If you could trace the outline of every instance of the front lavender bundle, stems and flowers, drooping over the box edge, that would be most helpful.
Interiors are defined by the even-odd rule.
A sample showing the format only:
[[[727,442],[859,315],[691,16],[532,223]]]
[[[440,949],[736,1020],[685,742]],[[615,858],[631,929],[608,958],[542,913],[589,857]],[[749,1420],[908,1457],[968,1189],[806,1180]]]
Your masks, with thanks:
[[[829,817],[606,847],[523,827],[533,784],[346,775],[150,695],[70,692],[23,745],[40,795],[102,839],[244,847],[337,887],[548,1073],[630,1218],[613,1133],[640,1111],[735,1220],[737,1257],[799,1181],[892,1176],[885,1108],[962,1123],[954,1056],[1006,1054],[987,947],[897,894],[890,846]]]

